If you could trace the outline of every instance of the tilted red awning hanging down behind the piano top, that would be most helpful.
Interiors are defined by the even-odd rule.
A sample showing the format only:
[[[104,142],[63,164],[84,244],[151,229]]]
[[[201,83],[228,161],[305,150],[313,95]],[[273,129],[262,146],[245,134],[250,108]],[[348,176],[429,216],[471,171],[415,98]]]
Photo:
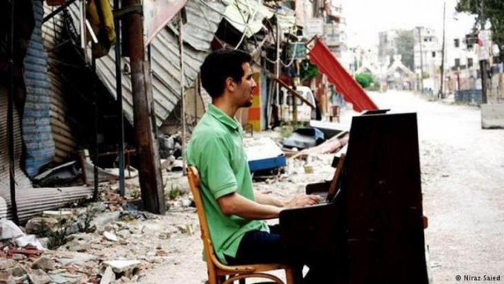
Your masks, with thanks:
[[[311,63],[318,66],[320,72],[327,75],[327,79],[336,86],[336,91],[343,95],[343,99],[353,104],[353,110],[359,112],[378,110],[378,106],[367,96],[353,77],[347,73],[347,70],[341,66],[336,56],[320,39],[316,39],[315,46],[313,46],[309,55]]]

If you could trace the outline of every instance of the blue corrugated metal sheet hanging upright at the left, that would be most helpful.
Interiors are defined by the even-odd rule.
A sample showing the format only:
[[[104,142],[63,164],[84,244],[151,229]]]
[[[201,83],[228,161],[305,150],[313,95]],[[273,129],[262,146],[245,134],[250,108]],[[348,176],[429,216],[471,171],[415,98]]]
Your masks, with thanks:
[[[55,155],[50,128],[50,82],[47,53],[42,44],[43,2],[32,0],[35,27],[24,64],[26,102],[23,113],[23,142],[26,146],[26,173],[33,177]]]

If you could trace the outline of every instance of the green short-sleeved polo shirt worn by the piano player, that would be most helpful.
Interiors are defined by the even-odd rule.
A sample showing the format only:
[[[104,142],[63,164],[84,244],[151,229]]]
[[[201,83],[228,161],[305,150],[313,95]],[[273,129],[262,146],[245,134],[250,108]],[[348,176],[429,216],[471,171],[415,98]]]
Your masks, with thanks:
[[[249,164],[243,148],[243,129],[213,104],[193,131],[186,149],[188,164],[200,172],[202,202],[217,258],[236,256],[244,234],[269,231],[261,220],[247,220],[222,213],[217,199],[236,192],[255,200]]]

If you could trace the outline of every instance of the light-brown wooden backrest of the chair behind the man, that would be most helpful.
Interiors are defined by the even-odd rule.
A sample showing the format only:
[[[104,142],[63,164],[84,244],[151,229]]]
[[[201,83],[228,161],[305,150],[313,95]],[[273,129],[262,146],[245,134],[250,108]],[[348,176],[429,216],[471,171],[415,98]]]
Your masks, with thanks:
[[[196,205],[197,218],[200,220],[201,238],[203,240],[204,254],[206,257],[206,266],[209,269],[209,281],[213,283],[213,279],[216,279],[217,275],[215,272],[215,265],[213,261],[216,261],[215,253],[213,252],[212,240],[210,238],[209,225],[206,223],[206,215],[203,208],[203,202],[200,192],[200,174],[197,169],[193,166],[188,166],[187,169],[187,179],[189,181],[189,186],[191,187],[191,193],[193,193],[194,203]]]

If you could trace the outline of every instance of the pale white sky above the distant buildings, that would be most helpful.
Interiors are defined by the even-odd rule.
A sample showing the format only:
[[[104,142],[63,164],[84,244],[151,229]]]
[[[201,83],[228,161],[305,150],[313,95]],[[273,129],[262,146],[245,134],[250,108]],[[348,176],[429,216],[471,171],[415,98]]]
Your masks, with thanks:
[[[336,0],[347,21],[349,46],[378,45],[378,32],[434,28],[443,37],[443,0]],[[463,37],[474,25],[474,17],[455,12],[457,0],[446,0],[446,38]],[[456,19],[455,19],[456,18]]]

